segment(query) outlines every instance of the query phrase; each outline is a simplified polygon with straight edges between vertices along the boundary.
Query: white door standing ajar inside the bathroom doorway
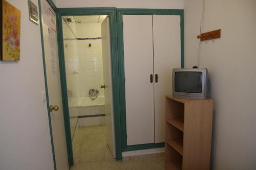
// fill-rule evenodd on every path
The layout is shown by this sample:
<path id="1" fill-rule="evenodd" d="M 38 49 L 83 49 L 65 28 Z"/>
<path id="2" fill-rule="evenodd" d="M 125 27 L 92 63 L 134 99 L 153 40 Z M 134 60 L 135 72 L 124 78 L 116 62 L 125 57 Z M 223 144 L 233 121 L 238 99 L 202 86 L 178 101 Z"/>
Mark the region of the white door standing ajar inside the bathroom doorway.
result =
<path id="1" fill-rule="evenodd" d="M 106 115 L 106 141 L 113 157 L 116 157 L 115 124 L 112 91 L 111 46 L 110 46 L 110 20 L 107 16 L 101 23 L 101 42 L 103 60 L 103 82 L 105 85 L 105 115 Z"/>

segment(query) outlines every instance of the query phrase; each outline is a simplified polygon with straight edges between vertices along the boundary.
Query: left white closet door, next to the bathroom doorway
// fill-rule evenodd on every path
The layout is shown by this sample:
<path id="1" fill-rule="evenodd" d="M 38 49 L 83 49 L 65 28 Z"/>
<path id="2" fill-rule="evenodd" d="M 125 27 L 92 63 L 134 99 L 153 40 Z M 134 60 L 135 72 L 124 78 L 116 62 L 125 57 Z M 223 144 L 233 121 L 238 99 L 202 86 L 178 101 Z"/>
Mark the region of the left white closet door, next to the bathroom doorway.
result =
<path id="1" fill-rule="evenodd" d="M 127 145 L 154 143 L 152 15 L 123 15 Z"/>

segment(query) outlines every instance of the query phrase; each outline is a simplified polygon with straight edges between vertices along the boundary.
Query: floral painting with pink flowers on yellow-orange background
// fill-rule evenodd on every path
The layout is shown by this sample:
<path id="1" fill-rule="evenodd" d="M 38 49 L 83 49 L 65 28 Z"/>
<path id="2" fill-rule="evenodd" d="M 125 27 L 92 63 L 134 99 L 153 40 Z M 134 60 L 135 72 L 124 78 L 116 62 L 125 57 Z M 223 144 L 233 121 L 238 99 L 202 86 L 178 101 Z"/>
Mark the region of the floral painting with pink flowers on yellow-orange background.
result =
<path id="1" fill-rule="evenodd" d="M 2 61 L 19 61 L 20 58 L 20 11 L 2 2 Z"/>

